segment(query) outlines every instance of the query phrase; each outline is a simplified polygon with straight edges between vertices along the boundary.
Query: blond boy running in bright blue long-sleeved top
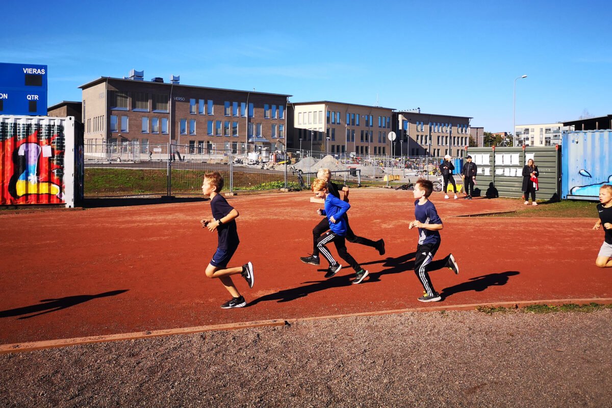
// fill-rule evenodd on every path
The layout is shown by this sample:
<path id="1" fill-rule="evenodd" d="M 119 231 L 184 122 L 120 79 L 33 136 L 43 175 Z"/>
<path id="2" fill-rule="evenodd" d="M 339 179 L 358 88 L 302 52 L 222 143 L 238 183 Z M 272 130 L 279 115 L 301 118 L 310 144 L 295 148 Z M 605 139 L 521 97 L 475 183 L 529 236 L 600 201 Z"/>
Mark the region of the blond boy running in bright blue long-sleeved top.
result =
<path id="1" fill-rule="evenodd" d="M 323 254 L 325 259 L 327 259 L 327 262 L 329 262 L 329 269 L 327 269 L 325 277 L 331 278 L 342 267 L 342 265 L 335 261 L 334 257 L 325 246 L 326 243 L 334 242 L 340 258 L 348 262 L 357 274 L 353 280 L 353 283 L 362 283 L 365 277 L 368 276 L 368 271 L 364 270 L 357 263 L 357 261 L 355 261 L 351 254 L 346 251 L 346 219 L 344 215 L 346 211 L 351 208 L 351 204 L 329 194 L 326 180 L 315 179 L 312 182 L 311 188 L 316 198 L 325 200 L 325 209 L 318 209 L 316 210 L 316 213 L 319 215 L 325 215 L 329 220 L 330 231 L 323 234 L 316 244 L 319 252 Z"/>

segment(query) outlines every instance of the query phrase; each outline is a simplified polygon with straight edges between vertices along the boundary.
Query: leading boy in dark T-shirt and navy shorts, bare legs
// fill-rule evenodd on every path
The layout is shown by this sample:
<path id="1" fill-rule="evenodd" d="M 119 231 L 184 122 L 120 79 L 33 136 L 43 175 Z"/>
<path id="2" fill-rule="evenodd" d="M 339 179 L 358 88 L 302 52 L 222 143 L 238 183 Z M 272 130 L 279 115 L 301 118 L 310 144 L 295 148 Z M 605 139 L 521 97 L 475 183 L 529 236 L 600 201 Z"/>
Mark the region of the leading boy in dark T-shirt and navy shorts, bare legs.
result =
<path id="1" fill-rule="evenodd" d="M 253 264 L 247 262 L 247 264 L 242 266 L 227 267 L 228 262 L 230 262 L 240 243 L 235 221 L 239 213 L 220 194 L 222 188 L 223 177 L 217 171 L 204 175 L 202 193 L 211 197 L 213 218 L 201 220 L 200 223 L 202 228 L 207 228 L 211 232 L 216 229 L 218 233 L 217 251 L 212 257 L 211 263 L 206 267 L 206 276 L 218 278 L 223 283 L 223 286 L 225 286 L 225 289 L 232 295 L 232 299 L 221 305 L 222 309 L 244 308 L 247 302 L 238 292 L 236 286 L 234 286 L 230 276 L 240 273 L 247 281 L 248 287 L 253 287 Z"/>

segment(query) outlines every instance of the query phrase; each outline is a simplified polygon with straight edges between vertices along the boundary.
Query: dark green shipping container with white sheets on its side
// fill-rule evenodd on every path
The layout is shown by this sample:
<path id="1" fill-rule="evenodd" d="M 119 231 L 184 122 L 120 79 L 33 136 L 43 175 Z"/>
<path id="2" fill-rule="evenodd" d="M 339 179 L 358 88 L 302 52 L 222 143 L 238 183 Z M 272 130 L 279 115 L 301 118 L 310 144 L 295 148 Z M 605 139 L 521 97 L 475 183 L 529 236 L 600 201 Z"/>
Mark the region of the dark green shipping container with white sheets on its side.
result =
<path id="1" fill-rule="evenodd" d="M 561 195 L 561 150 L 559 146 L 468 147 L 478 174 L 475 196 L 523 196 L 523 167 L 531 158 L 540 172 L 536 199 L 556 201 Z M 465 160 L 465 158 L 464 158 Z M 457 174 L 461 169 L 457 170 Z"/>

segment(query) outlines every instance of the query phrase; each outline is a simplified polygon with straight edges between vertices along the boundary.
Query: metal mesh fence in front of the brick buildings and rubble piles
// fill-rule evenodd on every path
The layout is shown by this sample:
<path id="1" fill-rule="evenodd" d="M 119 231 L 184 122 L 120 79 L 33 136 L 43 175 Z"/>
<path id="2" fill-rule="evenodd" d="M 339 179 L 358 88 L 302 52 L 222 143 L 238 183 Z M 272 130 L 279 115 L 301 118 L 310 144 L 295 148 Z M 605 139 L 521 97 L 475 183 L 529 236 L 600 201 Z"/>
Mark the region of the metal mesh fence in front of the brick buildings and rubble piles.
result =
<path id="1" fill-rule="evenodd" d="M 438 175 L 441 158 L 333 154 L 174 144 L 84 145 L 84 196 L 201 195 L 202 177 L 218 171 L 225 192 L 306 188 L 320 168 L 349 186 L 393 185 Z M 216 146 L 215 146 L 216 147 Z M 225 146 L 224 146 L 225 147 Z M 457 171 L 458 172 L 458 171 Z"/>

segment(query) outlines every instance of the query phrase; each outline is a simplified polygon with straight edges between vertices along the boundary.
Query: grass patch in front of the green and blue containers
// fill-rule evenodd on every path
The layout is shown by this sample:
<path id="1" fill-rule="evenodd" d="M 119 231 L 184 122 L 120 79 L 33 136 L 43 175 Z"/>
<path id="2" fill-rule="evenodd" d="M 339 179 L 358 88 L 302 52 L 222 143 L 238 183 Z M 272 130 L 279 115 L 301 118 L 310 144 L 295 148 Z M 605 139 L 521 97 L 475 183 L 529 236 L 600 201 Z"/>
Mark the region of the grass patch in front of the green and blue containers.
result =
<path id="1" fill-rule="evenodd" d="M 509 198 L 510 199 L 510 198 Z M 520 208 L 513 213 L 483 215 L 483 217 L 553 217 L 553 218 L 597 218 L 594 201 L 562 200 L 540 202 L 539 206 Z M 528 206 L 524 206 L 528 207 Z"/>

